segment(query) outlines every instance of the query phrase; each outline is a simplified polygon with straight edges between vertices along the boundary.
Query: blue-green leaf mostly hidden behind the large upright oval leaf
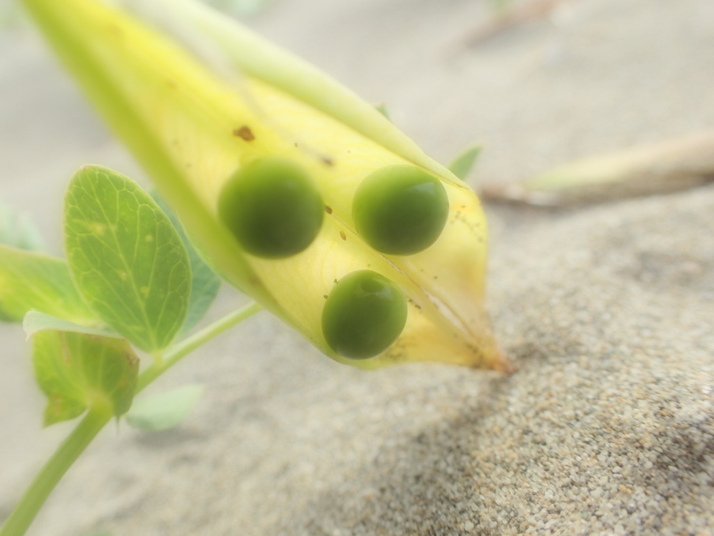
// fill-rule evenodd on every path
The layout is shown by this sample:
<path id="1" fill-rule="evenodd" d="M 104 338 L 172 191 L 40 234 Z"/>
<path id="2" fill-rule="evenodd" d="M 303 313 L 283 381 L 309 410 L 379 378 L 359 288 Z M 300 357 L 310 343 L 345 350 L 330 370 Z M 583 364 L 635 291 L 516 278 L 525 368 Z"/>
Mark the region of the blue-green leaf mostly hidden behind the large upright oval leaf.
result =
<path id="1" fill-rule="evenodd" d="M 183 230 L 183 225 L 178 220 L 178 216 L 176 216 L 176 213 L 166 204 L 159 192 L 152 191 L 151 197 L 154 198 L 156 204 L 159 205 L 161 210 L 163 210 L 166 216 L 171 220 L 171 224 L 174 225 L 178 236 L 183 240 L 183 245 L 186 246 L 188 260 L 191 262 L 191 298 L 188 300 L 186 320 L 183 322 L 181 331 L 178 332 L 179 336 L 181 336 L 190 332 L 203 318 L 203 315 L 206 314 L 208 307 L 211 307 L 213 300 L 216 299 L 218 295 L 218 289 L 221 288 L 221 278 L 203 261 L 201 255 L 198 254 L 196 248 L 193 247 L 191 240 L 186 236 L 186 232 Z"/>

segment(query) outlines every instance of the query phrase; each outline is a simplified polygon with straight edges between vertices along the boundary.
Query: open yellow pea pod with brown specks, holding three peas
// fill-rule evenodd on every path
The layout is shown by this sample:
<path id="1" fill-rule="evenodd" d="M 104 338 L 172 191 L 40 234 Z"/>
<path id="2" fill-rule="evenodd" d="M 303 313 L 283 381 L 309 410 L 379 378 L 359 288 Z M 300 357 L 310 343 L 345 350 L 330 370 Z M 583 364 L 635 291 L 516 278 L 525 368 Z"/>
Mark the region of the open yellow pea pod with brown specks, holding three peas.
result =
<path id="1" fill-rule="evenodd" d="M 139 16 L 98 0 L 22 1 L 229 282 L 341 362 L 509 368 L 484 309 L 486 222 L 476 195 L 372 106 L 198 2 L 137 2 Z M 221 212 L 226 184 L 271 159 L 308 177 L 325 211 L 309 245 L 282 257 L 256 254 Z M 441 233 L 406 252 L 374 249 L 364 226 L 376 220 L 369 211 L 357 217 L 356 204 L 370 208 L 385 193 L 378 185 L 358 202 L 358 188 L 375 173 L 390 184 L 390 169 L 407 175 L 416 169 L 446 199 L 436 225 Z M 398 221 L 386 224 L 397 222 L 397 234 L 411 229 Z M 328 339 L 341 337 L 343 327 L 369 337 L 352 320 L 361 322 L 355 315 L 364 310 L 369 317 L 371 309 L 356 307 L 344 288 L 332 293 L 338 282 L 352 281 L 348 274 L 365 270 L 382 278 L 378 288 L 385 292 L 396 285 L 406 315 L 397 307 L 393 323 L 403 318 L 404 325 L 396 327 L 393 344 L 351 355 Z M 323 309 L 344 313 L 344 322 L 323 318 Z"/>

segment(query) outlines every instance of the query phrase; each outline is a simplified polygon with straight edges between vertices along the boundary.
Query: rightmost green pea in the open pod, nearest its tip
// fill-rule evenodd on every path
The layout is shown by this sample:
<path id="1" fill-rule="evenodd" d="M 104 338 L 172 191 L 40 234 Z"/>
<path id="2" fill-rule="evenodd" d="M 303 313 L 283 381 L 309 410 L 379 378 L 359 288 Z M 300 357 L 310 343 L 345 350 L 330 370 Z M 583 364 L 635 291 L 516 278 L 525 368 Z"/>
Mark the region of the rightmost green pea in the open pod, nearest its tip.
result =
<path id="1" fill-rule="evenodd" d="M 416 166 L 378 169 L 358 186 L 352 202 L 357 232 L 373 249 L 411 255 L 436 242 L 448 219 L 446 189 Z"/>

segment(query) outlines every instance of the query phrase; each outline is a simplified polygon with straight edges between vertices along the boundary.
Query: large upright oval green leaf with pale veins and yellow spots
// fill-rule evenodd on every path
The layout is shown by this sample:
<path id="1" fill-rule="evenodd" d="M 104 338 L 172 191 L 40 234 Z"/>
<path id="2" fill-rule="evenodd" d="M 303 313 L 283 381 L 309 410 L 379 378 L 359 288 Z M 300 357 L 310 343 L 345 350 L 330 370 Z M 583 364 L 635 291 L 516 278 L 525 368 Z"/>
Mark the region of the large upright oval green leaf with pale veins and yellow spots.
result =
<path id="1" fill-rule="evenodd" d="M 186 319 L 191 266 L 149 194 L 111 169 L 83 167 L 67 191 L 64 232 L 69 269 L 89 307 L 147 352 L 168 346 Z"/>

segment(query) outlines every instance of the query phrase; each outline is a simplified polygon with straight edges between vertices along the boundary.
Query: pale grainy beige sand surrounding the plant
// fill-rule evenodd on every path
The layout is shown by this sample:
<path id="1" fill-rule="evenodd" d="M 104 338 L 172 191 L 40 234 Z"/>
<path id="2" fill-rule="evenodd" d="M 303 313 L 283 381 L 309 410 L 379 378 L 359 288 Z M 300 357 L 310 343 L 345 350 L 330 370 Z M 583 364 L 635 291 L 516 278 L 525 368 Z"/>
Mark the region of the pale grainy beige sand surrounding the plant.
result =
<path id="1" fill-rule="evenodd" d="M 711 0 L 570 0 L 461 47 L 488 13 L 483 0 L 276 0 L 248 22 L 386 101 L 438 159 L 486 142 L 473 184 L 714 123 Z M 0 36 L 0 162 L 1 198 L 58 253 L 79 164 L 139 177 L 26 31 Z M 511 377 L 361 372 L 261 314 L 156 385 L 206 384 L 189 420 L 108 427 L 31 534 L 714 534 L 714 187 L 486 210 Z M 23 339 L 0 326 L 0 517 L 68 430 L 40 430 Z"/>

